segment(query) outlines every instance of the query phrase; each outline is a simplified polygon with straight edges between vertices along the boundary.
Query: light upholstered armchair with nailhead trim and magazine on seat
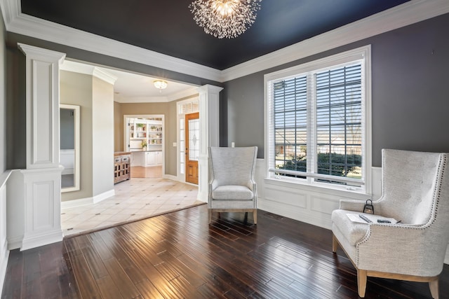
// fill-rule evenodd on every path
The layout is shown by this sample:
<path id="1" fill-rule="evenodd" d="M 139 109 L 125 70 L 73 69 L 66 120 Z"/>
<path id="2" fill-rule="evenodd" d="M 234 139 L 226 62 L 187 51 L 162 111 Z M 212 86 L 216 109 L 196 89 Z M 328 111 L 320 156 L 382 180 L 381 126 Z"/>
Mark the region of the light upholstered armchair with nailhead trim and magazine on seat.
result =
<path id="1" fill-rule="evenodd" d="M 401 223 L 356 223 L 364 202 L 340 201 L 333 211 L 333 252 L 340 244 L 357 270 L 358 295 L 367 277 L 429 282 L 438 298 L 449 241 L 448 153 L 382 150 L 382 196 L 375 214 Z"/>

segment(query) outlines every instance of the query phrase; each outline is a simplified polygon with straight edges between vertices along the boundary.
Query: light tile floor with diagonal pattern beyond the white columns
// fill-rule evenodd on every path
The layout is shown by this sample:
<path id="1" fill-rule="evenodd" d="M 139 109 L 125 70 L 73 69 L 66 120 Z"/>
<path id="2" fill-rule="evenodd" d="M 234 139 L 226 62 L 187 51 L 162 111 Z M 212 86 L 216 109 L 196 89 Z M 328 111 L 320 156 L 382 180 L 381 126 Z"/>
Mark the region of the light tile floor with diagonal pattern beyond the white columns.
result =
<path id="1" fill-rule="evenodd" d="M 114 186 L 115 195 L 97 204 L 63 209 L 64 235 L 107 228 L 195 204 L 198 187 L 169 179 L 130 179 Z"/>

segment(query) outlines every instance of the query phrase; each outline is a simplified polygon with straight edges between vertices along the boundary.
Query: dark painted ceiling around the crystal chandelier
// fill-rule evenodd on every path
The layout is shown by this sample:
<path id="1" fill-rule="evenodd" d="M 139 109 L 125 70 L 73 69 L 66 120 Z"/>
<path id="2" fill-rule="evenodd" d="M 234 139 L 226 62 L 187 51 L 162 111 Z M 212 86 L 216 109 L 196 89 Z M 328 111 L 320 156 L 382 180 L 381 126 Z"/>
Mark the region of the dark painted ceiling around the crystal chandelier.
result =
<path id="1" fill-rule="evenodd" d="M 192 0 L 21 0 L 22 13 L 227 69 L 409 0 L 262 0 L 255 24 L 217 39 L 192 18 Z"/>

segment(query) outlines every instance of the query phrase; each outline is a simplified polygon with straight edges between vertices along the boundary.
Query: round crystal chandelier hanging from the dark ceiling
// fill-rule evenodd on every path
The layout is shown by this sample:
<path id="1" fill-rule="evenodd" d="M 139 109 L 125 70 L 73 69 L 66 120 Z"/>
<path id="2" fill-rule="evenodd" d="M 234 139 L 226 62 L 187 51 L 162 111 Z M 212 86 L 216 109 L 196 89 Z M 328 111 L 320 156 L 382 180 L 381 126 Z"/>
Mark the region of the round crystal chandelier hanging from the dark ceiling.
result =
<path id="1" fill-rule="evenodd" d="M 253 25 L 262 0 L 195 0 L 189 5 L 204 32 L 232 39 Z"/>

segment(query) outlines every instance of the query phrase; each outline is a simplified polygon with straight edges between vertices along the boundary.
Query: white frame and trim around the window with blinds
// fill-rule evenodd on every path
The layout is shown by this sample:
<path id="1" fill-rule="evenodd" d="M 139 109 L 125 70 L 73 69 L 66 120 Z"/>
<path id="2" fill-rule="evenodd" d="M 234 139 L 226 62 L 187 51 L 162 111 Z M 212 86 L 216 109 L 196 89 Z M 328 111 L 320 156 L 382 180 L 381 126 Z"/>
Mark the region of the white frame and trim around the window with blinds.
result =
<path id="1" fill-rule="evenodd" d="M 273 105 L 270 102 L 272 99 L 272 83 L 274 81 L 279 81 L 280 79 L 294 78 L 297 76 L 302 76 L 302 74 L 308 74 L 311 72 L 319 72 L 326 71 L 326 69 L 334 69 L 335 67 L 339 67 L 345 64 L 350 64 L 354 62 L 361 62 L 362 65 L 362 78 L 363 78 L 363 99 L 362 99 L 362 123 L 363 123 L 363 134 L 362 134 L 362 179 L 357 181 L 361 181 L 361 187 L 358 186 L 348 186 L 348 185 L 338 185 L 333 183 L 321 183 L 315 181 L 316 177 L 323 177 L 326 175 L 311 173 L 310 167 L 311 163 L 315 162 L 316 157 L 316 127 L 314 124 L 314 118 L 308 116 L 307 117 L 307 127 L 311 126 L 311 133 L 313 137 L 307 136 L 307 177 L 306 179 L 297 179 L 289 176 L 275 176 L 273 172 L 270 172 L 270 165 L 272 165 L 272 155 L 274 154 L 274 140 L 272 139 L 272 113 L 273 113 Z M 308 82 L 309 84 L 310 82 Z M 312 85 L 308 86 L 308 92 L 311 92 L 311 97 L 313 100 L 308 103 L 307 109 L 308 113 L 316 113 L 316 99 L 314 95 L 314 90 Z M 311 62 L 306 62 L 304 64 L 299 64 L 294 67 L 289 67 L 287 69 L 281 69 L 279 71 L 274 71 L 269 74 L 264 75 L 264 157 L 265 157 L 265 165 L 266 165 L 266 178 L 267 179 L 279 179 L 280 181 L 292 182 L 292 183 L 300 183 L 308 186 L 316 186 L 319 188 L 330 188 L 337 190 L 348 190 L 356 193 L 371 193 L 371 169 L 372 169 L 372 125 L 371 125 L 371 47 L 363 46 L 360 48 L 356 48 L 353 50 L 345 51 L 343 53 L 338 53 L 336 55 L 331 55 L 328 57 L 324 57 L 319 60 L 314 60 Z M 309 132 L 309 130 L 307 130 Z M 309 134 L 308 134 L 309 135 Z M 309 152 L 309 148 L 313 153 Z M 334 177 L 334 176 L 330 176 Z M 335 176 L 337 178 L 337 176 Z M 348 181 L 347 178 L 344 179 Z M 349 180 L 350 181 L 350 180 Z"/>

